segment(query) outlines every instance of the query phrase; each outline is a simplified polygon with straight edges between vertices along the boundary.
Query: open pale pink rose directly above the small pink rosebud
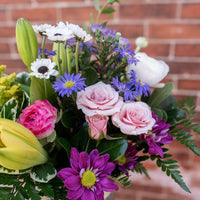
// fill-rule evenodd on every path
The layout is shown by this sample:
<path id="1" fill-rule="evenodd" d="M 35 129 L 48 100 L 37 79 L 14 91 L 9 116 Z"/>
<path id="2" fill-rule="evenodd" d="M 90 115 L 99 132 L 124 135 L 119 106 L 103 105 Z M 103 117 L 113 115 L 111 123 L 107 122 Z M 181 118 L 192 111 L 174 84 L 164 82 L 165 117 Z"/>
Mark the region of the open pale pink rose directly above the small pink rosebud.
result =
<path id="1" fill-rule="evenodd" d="M 76 104 L 87 116 L 109 116 L 119 112 L 123 98 L 110 85 L 98 82 L 78 92 Z"/>

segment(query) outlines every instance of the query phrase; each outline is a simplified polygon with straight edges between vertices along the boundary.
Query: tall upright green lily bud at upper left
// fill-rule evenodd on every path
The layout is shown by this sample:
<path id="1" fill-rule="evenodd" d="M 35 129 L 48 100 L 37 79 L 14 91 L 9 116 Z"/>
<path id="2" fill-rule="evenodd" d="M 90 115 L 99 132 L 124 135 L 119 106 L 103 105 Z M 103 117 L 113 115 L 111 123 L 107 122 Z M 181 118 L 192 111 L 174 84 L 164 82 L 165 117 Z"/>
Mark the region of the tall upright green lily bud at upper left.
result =
<path id="1" fill-rule="evenodd" d="M 17 20 L 16 42 L 19 55 L 30 72 L 31 63 L 38 57 L 38 42 L 33 27 L 25 18 Z"/>

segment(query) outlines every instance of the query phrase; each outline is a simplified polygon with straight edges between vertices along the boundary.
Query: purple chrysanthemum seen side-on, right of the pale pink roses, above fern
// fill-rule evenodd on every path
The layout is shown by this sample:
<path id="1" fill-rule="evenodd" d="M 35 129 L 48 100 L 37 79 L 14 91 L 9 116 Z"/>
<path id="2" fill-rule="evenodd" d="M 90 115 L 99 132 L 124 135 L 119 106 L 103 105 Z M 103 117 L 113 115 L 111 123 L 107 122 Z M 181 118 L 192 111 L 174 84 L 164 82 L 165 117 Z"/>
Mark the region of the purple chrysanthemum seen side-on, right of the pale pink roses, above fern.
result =
<path id="1" fill-rule="evenodd" d="M 158 120 L 157 115 L 152 111 L 152 116 L 156 120 L 155 125 L 153 126 L 151 132 L 147 135 L 143 134 L 140 136 L 140 139 L 146 139 L 149 146 L 149 154 L 159 155 L 163 158 L 163 150 L 161 144 L 169 144 L 172 142 L 173 137 L 168 133 L 170 125 L 165 122 L 164 119 Z"/>

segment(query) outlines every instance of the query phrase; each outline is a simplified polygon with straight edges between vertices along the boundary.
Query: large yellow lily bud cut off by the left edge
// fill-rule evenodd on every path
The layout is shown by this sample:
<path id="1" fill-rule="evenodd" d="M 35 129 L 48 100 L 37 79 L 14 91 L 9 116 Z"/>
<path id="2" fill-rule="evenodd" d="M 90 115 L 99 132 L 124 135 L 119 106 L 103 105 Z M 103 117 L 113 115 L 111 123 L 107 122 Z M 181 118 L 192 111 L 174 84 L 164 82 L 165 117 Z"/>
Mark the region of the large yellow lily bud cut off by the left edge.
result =
<path id="1" fill-rule="evenodd" d="M 0 165 L 23 170 L 47 162 L 47 153 L 34 134 L 21 124 L 0 118 Z"/>

